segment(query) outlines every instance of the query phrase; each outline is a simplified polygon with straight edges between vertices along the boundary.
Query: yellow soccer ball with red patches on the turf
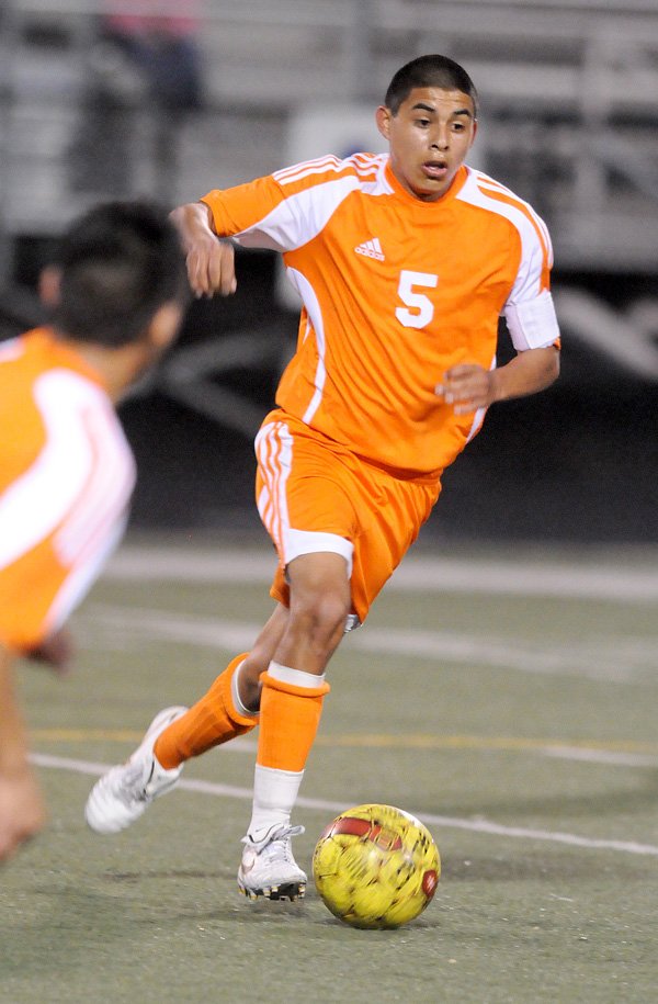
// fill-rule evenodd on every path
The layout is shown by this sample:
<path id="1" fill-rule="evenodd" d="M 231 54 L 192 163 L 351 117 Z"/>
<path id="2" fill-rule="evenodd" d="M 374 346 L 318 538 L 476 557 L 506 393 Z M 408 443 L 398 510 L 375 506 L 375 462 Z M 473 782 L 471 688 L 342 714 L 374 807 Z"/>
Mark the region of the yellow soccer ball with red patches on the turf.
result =
<path id="1" fill-rule="evenodd" d="M 352 927 L 399 927 L 426 909 L 441 873 L 420 820 L 393 805 L 358 805 L 322 832 L 313 856 L 316 889 Z"/>

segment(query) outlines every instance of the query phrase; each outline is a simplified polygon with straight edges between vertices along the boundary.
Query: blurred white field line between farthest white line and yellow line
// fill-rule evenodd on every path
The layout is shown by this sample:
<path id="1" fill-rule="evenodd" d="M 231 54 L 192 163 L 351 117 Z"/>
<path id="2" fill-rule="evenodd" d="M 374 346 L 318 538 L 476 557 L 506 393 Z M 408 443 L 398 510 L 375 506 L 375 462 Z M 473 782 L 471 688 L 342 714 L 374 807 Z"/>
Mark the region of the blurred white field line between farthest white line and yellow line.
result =
<path id="1" fill-rule="evenodd" d="M 136 639 L 245 650 L 253 644 L 262 627 L 256 622 L 105 603 L 89 603 L 80 617 L 92 628 L 112 629 L 122 644 L 128 632 Z M 490 636 L 478 639 L 449 632 L 366 624 L 351 632 L 342 644 L 344 648 L 341 651 L 355 648 L 381 655 L 411 655 L 432 662 L 480 664 L 529 674 L 577 676 L 617 684 L 646 681 L 651 678 L 656 665 L 655 643 L 650 639 L 634 639 L 632 645 L 627 640 L 620 640 L 619 646 L 613 639 L 605 639 L 600 644 L 574 642 L 534 647 L 523 645 L 519 640 L 512 645 L 504 639 Z"/>

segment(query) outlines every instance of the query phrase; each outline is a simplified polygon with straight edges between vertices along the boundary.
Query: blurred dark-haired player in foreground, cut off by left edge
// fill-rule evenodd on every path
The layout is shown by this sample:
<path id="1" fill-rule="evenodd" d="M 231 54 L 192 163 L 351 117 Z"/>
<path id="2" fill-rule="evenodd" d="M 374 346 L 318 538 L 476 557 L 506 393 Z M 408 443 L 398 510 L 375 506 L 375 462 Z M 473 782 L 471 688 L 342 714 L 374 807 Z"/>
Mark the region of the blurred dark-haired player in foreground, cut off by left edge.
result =
<path id="1" fill-rule="evenodd" d="M 179 329 L 179 235 L 150 205 L 91 210 L 41 294 L 48 325 L 0 345 L 0 860 L 45 821 L 14 663 L 65 668 L 61 625 L 122 535 L 135 465 L 113 405 Z"/>

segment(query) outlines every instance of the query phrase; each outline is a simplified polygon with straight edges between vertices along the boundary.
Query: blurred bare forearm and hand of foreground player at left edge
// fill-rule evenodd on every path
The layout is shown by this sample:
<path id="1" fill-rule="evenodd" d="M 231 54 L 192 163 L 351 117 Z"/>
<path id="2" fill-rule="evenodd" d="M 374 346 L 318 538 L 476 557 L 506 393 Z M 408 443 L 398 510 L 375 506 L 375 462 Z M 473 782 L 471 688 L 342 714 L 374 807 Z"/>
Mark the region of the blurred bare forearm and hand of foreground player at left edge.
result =
<path id="1" fill-rule="evenodd" d="M 27 740 L 13 683 L 13 657 L 0 642 L 0 861 L 42 828 L 45 811 L 27 763 Z"/>

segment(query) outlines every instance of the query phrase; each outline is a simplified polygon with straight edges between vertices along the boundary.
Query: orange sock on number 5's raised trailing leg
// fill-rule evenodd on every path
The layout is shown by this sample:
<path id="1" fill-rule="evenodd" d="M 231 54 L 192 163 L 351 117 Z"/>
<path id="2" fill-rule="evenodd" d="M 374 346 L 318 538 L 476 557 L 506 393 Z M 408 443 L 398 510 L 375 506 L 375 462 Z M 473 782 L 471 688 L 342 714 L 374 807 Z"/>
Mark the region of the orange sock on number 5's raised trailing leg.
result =
<path id="1" fill-rule="evenodd" d="M 259 715 L 240 713 L 231 693 L 232 676 L 248 654 L 237 655 L 207 693 L 158 736 L 154 753 L 166 770 L 258 725 Z"/>

